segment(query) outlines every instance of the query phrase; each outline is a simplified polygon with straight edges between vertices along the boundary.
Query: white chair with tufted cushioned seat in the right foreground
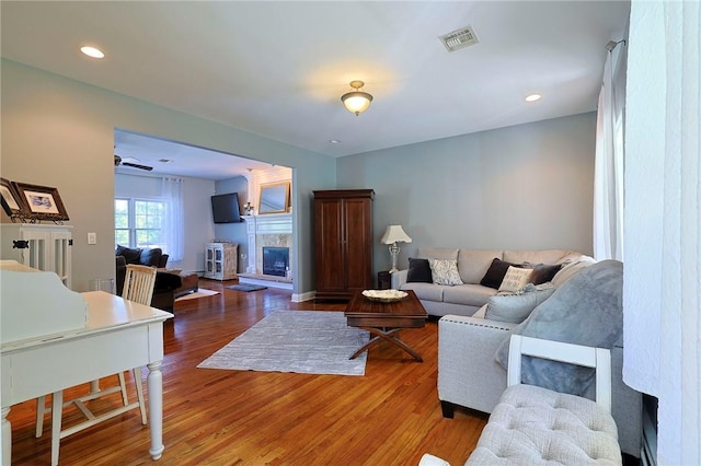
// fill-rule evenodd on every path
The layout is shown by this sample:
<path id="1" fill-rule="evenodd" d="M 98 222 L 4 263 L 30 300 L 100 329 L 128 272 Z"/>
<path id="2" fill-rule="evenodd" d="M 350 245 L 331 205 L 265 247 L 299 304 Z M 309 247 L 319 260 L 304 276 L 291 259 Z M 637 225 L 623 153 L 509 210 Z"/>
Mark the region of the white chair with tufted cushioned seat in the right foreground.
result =
<path id="1" fill-rule="evenodd" d="M 524 354 L 593 368 L 596 401 L 521 384 Z M 513 335 L 507 385 L 466 466 L 489 466 L 497 456 L 509 464 L 622 464 L 608 349 Z"/>

